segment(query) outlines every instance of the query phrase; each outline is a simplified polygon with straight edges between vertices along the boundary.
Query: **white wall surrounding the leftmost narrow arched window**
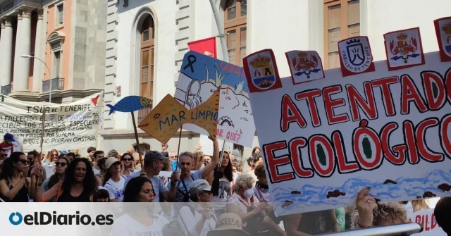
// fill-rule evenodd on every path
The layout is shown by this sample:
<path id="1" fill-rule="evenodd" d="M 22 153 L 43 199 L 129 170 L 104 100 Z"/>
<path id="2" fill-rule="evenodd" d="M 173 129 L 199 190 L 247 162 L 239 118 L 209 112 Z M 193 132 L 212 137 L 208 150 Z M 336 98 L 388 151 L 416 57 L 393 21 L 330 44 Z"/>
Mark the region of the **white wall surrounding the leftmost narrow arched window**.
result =
<path id="1" fill-rule="evenodd" d="M 166 94 L 174 94 L 175 87 L 172 80 L 175 61 L 175 1 L 157 0 L 146 4 L 145 0 L 133 0 L 134 8 L 127 8 L 127 11 L 119 12 L 118 20 L 118 58 L 117 58 L 117 78 L 116 86 L 122 86 L 121 97 L 117 97 L 119 101 L 123 97 L 129 95 L 139 95 L 137 83 L 140 81 L 139 73 L 135 65 L 130 61 L 140 53 L 140 45 L 136 44 L 136 15 L 140 9 L 149 7 L 154 15 L 156 23 L 155 34 L 155 54 L 154 54 L 154 106 L 166 96 Z M 130 4 L 131 5 L 131 4 Z M 140 63 L 140 61 L 136 61 Z M 132 128 L 128 113 L 115 113 L 115 128 L 126 129 Z M 127 120 L 127 122 L 124 122 Z"/>

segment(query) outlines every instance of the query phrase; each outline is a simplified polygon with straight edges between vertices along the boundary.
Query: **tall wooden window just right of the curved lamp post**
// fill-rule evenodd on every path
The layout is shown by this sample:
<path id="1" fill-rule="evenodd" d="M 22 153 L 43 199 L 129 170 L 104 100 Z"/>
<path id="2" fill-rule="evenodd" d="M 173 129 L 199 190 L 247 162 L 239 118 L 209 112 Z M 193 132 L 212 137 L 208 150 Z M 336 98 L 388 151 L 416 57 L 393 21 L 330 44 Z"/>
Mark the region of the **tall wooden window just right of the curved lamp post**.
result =
<path id="1" fill-rule="evenodd" d="M 224 32 L 226 32 L 228 59 L 242 66 L 246 56 L 247 0 L 228 0 L 224 7 Z"/>

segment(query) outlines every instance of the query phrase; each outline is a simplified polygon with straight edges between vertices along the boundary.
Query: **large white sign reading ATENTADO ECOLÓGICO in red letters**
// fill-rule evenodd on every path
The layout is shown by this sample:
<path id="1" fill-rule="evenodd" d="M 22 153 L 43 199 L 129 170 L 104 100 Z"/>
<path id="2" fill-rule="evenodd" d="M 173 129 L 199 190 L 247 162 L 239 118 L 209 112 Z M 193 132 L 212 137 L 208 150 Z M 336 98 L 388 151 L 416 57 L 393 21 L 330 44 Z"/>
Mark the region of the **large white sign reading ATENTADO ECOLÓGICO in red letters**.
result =
<path id="1" fill-rule="evenodd" d="M 435 51 L 375 67 L 250 94 L 278 216 L 352 205 L 364 187 L 381 201 L 451 195 L 450 63 Z"/>

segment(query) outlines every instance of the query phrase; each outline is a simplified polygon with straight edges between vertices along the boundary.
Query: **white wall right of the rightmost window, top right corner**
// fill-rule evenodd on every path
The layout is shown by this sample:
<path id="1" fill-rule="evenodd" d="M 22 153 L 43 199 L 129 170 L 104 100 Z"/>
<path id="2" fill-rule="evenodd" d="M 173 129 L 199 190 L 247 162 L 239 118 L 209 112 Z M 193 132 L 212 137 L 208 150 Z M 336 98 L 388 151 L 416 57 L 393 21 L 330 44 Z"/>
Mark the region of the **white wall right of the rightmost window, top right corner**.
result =
<path id="1" fill-rule="evenodd" d="M 375 61 L 385 60 L 383 35 L 387 32 L 420 27 L 424 52 L 438 51 L 433 20 L 451 15 L 450 0 L 368 1 L 368 37 Z"/>

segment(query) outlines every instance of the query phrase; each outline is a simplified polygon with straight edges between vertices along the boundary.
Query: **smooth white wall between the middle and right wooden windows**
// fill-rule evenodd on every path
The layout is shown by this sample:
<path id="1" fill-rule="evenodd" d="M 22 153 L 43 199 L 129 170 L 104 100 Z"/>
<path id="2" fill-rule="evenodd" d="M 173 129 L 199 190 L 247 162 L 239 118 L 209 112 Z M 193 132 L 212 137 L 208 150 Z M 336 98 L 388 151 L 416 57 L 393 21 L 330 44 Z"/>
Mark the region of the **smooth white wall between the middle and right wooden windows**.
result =
<path id="1" fill-rule="evenodd" d="M 289 76 L 290 69 L 285 52 L 309 49 L 308 1 L 247 2 L 249 5 L 247 6 L 247 54 L 262 49 L 273 49 L 280 77 Z"/>

